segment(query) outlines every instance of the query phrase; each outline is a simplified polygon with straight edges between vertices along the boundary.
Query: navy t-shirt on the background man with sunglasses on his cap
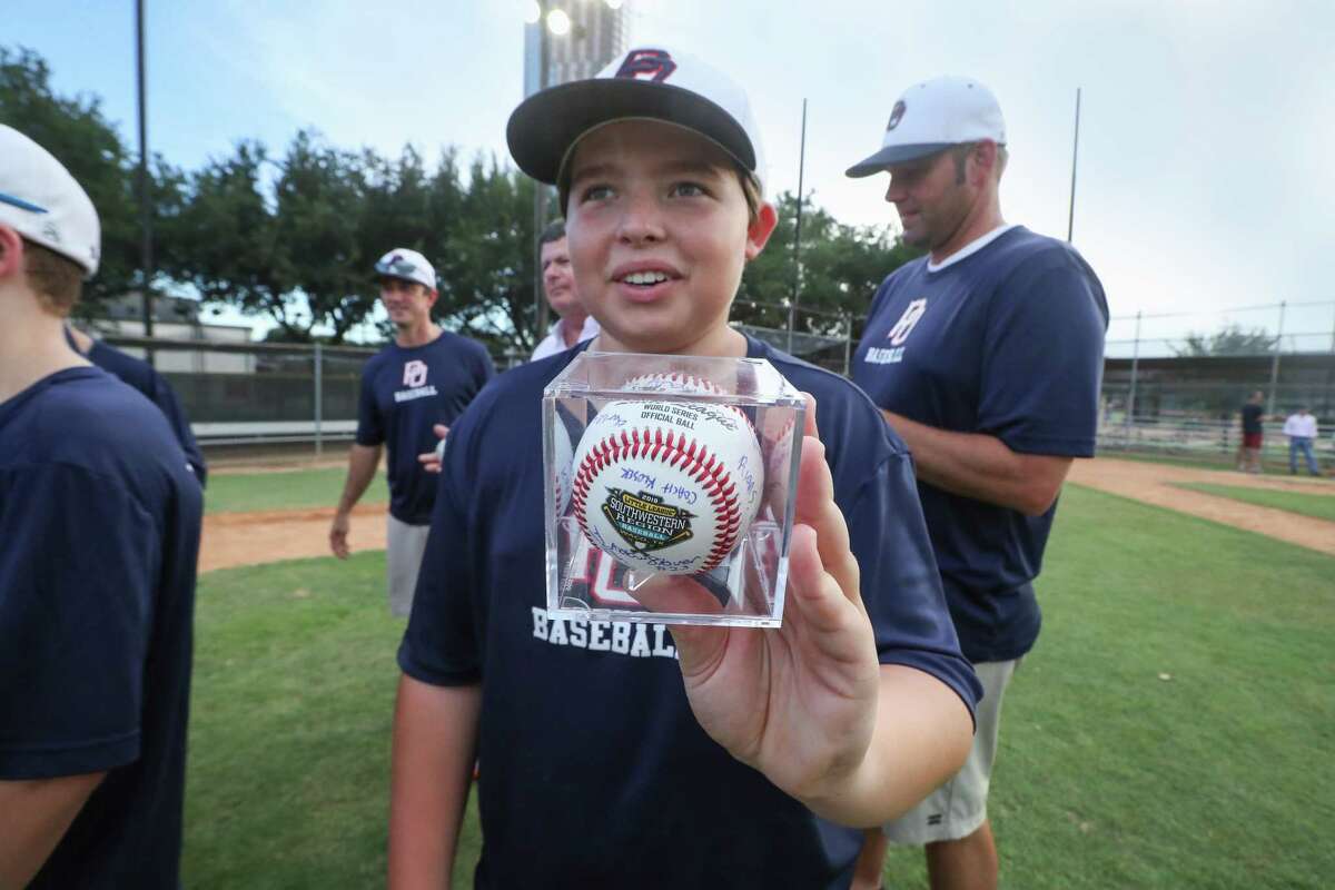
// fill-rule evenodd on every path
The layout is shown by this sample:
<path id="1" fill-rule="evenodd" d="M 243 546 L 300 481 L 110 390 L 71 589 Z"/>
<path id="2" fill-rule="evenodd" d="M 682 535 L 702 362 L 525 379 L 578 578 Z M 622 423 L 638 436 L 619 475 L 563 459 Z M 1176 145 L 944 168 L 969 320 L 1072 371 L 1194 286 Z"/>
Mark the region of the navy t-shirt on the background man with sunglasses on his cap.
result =
<path id="1" fill-rule="evenodd" d="M 418 455 L 439 442 L 431 427 L 453 424 L 494 374 L 486 347 L 449 331 L 425 346 L 390 343 L 366 363 L 356 443 L 384 443 L 390 515 L 399 522 L 431 522 L 437 476 L 422 470 Z"/>

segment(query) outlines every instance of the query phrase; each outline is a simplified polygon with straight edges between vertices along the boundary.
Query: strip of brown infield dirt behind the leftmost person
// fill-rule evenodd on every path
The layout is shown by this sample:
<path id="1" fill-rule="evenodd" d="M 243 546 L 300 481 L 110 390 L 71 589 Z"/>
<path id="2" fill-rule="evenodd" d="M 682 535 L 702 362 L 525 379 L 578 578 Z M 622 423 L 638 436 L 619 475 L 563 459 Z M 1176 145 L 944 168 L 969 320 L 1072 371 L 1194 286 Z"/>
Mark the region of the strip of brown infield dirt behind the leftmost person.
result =
<path id="1" fill-rule="evenodd" d="M 384 550 L 384 514 L 383 504 L 366 504 L 352 510 L 352 527 L 347 540 L 354 551 Z M 332 520 L 332 507 L 204 516 L 199 571 L 328 556 Z"/>

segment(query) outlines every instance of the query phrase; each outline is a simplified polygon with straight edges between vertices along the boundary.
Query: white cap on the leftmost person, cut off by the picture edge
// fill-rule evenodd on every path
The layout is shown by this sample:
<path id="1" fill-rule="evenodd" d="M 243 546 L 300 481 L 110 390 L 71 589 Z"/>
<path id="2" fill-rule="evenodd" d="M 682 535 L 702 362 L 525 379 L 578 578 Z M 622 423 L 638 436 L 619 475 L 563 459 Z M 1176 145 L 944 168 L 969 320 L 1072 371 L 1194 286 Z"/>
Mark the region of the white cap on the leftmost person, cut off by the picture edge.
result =
<path id="1" fill-rule="evenodd" d="M 0 124 L 0 226 L 68 256 L 92 278 L 101 226 L 88 192 L 64 164 L 13 127 Z"/>

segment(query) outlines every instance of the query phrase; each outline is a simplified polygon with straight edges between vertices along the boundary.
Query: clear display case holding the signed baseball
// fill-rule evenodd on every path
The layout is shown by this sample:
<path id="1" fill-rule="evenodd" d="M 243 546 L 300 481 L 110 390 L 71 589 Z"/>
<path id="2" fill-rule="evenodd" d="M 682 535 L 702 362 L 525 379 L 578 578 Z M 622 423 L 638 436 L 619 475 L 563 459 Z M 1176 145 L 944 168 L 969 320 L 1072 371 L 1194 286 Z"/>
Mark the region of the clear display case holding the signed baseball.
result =
<path id="1" fill-rule="evenodd" d="M 549 612 L 777 627 L 805 418 L 762 359 L 579 354 L 542 399 Z"/>

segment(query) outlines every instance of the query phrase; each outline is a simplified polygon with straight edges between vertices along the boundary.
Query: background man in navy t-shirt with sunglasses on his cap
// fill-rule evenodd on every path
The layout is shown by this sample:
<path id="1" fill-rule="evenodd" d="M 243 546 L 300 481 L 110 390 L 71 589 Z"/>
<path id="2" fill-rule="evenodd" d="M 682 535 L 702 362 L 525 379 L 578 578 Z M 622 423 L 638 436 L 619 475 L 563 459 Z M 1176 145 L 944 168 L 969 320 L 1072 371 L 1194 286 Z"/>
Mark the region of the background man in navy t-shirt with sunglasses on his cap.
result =
<path id="1" fill-rule="evenodd" d="M 425 256 L 392 250 L 375 264 L 375 274 L 380 303 L 394 324 L 394 342 L 362 370 L 356 443 L 348 454 L 330 548 L 339 559 L 347 558 L 348 516 L 375 476 L 380 448 L 386 447 L 390 611 L 407 616 L 435 503 L 439 447 L 449 426 L 495 371 L 486 347 L 442 331 L 431 320 L 437 280 Z"/>

